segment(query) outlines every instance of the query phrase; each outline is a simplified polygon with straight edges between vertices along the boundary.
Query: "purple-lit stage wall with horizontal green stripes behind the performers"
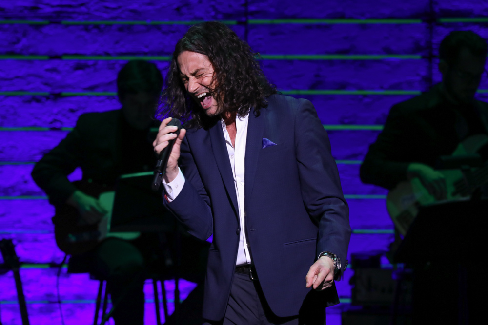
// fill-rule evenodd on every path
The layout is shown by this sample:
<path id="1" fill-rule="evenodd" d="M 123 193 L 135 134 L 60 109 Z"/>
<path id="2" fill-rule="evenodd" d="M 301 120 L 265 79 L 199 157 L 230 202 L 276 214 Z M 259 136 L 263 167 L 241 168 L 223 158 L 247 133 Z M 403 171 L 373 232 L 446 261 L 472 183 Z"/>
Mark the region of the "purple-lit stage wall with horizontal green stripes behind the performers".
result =
<path id="1" fill-rule="evenodd" d="M 393 239 L 386 191 L 361 183 L 361 161 L 389 108 L 440 80 L 440 40 L 459 29 L 487 38 L 486 17 L 487 0 L 1 0 L 0 238 L 12 238 L 29 263 L 21 277 L 31 323 L 61 324 L 50 264 L 63 253 L 54 241 L 53 208 L 30 172 L 81 114 L 120 107 L 115 81 L 128 59 L 155 62 L 165 74 L 190 25 L 228 24 L 261 54 L 279 90 L 315 105 L 350 205 L 349 253 L 385 251 Z M 484 80 L 479 97 L 487 94 Z M 344 304 L 330 308 L 328 324 L 340 324 L 352 273 L 337 285 Z M 92 321 L 97 286 L 63 269 L 66 324 Z M 192 287 L 183 285 L 183 298 Z M 153 324 L 150 283 L 146 289 L 146 324 Z M 21 324 L 11 273 L 0 276 L 0 299 L 3 322 Z"/>

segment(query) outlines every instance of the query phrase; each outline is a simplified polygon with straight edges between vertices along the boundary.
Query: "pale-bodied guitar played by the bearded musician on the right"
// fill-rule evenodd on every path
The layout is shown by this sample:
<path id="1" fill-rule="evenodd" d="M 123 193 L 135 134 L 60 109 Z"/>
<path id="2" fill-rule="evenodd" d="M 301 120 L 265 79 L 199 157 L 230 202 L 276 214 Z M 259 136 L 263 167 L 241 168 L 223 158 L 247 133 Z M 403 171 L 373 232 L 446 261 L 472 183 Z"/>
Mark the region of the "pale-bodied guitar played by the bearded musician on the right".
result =
<path id="1" fill-rule="evenodd" d="M 477 153 L 479 149 L 487 144 L 487 135 L 473 135 L 460 143 L 452 155 L 459 156 Z M 459 191 L 459 183 L 466 184 L 463 172 L 460 170 L 441 170 L 439 172 L 445 176 L 447 185 L 447 198 L 443 201 L 439 201 L 430 195 L 418 178 L 400 182 L 388 193 L 386 209 L 395 227 L 402 235 L 407 233 L 420 207 L 444 201 L 468 200 L 470 198 L 469 191 Z M 468 187 L 469 185 L 466 184 L 466 188 Z"/>

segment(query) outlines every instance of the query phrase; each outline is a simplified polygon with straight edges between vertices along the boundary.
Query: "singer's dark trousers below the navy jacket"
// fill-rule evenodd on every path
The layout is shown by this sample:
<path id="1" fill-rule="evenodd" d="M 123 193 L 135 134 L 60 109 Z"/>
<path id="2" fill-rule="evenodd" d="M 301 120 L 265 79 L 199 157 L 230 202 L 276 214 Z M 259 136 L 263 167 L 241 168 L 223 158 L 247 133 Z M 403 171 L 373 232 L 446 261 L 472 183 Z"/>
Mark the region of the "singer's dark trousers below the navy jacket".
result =
<path id="1" fill-rule="evenodd" d="M 325 325 L 325 306 L 305 304 L 307 299 L 297 316 L 278 317 L 268 306 L 259 281 L 252 281 L 248 274 L 236 272 L 224 319 L 207 321 L 205 325 Z"/>

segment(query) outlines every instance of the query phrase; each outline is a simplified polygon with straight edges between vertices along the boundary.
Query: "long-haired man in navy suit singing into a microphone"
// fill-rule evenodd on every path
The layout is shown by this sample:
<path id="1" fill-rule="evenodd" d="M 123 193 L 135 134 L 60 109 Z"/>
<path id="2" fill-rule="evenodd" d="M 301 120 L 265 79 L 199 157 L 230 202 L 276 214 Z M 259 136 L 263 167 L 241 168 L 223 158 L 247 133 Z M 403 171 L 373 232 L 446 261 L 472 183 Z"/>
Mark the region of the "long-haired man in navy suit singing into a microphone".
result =
<path id="1" fill-rule="evenodd" d="M 348 207 L 313 105 L 276 94 L 256 53 L 218 22 L 176 44 L 161 115 L 166 207 L 189 233 L 213 235 L 206 324 L 325 324 L 346 268 Z M 184 257 L 183 257 L 184 258 Z M 305 280 L 305 281 L 304 281 Z"/>

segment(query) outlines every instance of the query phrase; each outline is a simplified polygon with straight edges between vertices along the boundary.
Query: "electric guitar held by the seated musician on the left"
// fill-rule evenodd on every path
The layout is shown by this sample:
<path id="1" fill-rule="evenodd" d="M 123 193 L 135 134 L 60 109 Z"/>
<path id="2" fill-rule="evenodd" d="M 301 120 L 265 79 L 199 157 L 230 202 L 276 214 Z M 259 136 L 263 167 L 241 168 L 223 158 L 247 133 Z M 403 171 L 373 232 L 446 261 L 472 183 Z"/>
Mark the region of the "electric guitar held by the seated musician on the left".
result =
<path id="1" fill-rule="evenodd" d="M 139 237 L 140 232 L 110 232 L 112 209 L 115 191 L 110 188 L 85 181 L 73 182 L 78 190 L 99 199 L 102 207 L 107 210 L 98 224 L 88 225 L 78 210 L 68 204 L 56 207 L 53 217 L 56 244 L 67 254 L 81 254 L 95 248 L 98 243 L 108 237 L 131 240 Z"/>

